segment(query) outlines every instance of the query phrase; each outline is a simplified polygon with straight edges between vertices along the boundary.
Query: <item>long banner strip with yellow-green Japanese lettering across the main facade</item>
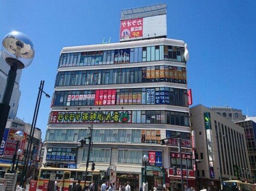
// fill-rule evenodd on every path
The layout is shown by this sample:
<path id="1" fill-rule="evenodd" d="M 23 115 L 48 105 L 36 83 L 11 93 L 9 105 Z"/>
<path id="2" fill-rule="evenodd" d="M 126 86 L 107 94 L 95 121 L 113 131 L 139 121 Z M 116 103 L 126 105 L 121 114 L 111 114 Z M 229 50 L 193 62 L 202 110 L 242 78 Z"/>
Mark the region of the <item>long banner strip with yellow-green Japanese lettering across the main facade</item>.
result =
<path id="1" fill-rule="evenodd" d="M 131 123 L 132 111 L 53 111 L 50 123 Z"/>

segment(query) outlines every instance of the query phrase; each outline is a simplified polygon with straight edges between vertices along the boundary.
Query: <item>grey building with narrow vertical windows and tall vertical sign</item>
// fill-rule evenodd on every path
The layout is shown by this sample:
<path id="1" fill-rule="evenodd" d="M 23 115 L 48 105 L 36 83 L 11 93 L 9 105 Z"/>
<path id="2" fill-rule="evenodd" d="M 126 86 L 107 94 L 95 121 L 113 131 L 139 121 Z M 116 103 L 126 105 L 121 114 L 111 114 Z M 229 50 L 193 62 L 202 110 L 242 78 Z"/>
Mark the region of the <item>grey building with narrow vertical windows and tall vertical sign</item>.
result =
<path id="1" fill-rule="evenodd" d="M 190 108 L 190 120 L 195 157 L 197 183 L 211 191 L 219 191 L 220 181 L 252 182 L 246 135 L 244 129 L 215 111 L 202 105 Z"/>

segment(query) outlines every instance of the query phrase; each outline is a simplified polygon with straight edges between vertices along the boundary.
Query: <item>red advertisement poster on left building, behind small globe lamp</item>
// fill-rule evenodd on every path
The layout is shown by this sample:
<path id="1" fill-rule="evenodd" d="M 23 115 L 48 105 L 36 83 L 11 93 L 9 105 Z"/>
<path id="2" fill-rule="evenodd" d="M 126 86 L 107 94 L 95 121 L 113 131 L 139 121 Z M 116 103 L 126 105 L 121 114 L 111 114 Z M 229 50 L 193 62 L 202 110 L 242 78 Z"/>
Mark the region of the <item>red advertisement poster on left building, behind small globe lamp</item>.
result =
<path id="1" fill-rule="evenodd" d="M 7 137 L 7 143 L 5 144 L 5 151 L 4 151 L 4 156 L 6 158 L 12 158 L 15 153 L 16 141 L 14 140 L 14 134 L 16 132 L 17 130 L 13 130 L 13 129 L 10 129 L 9 131 L 9 135 Z M 23 134 L 24 134 L 24 138 L 21 142 L 19 142 L 18 148 L 21 148 L 24 152 L 27 134 L 25 132 L 23 132 Z"/>

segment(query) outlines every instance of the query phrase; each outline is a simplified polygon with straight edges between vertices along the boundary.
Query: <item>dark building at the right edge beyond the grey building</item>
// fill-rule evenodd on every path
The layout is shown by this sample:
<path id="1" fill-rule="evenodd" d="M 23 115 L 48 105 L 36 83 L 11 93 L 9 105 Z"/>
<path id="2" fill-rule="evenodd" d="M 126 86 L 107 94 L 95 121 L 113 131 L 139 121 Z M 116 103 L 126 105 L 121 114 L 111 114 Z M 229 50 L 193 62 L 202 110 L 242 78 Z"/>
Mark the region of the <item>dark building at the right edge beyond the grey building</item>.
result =
<path id="1" fill-rule="evenodd" d="M 243 169 L 243 173 L 251 174 L 253 181 L 256 182 L 256 122 L 253 117 L 247 118 L 245 121 L 235 122 L 245 130 L 246 145 L 249 155 L 251 171 L 247 168 Z"/>

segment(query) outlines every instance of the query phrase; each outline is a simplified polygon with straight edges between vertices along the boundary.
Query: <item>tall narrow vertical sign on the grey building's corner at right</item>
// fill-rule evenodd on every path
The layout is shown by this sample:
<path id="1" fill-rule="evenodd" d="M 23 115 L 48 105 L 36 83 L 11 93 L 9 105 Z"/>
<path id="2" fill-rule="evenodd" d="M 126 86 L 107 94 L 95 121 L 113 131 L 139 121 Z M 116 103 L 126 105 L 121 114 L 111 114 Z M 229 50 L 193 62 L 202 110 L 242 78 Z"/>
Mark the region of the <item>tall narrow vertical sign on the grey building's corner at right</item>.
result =
<path id="1" fill-rule="evenodd" d="M 212 124 L 211 124 L 211 115 L 209 112 L 204 113 L 204 123 L 206 129 L 206 139 L 208 147 L 208 156 L 209 156 L 209 171 L 211 178 L 214 178 L 213 170 L 213 161 L 214 161 L 214 146 L 213 146 L 213 134 L 212 134 Z"/>

